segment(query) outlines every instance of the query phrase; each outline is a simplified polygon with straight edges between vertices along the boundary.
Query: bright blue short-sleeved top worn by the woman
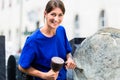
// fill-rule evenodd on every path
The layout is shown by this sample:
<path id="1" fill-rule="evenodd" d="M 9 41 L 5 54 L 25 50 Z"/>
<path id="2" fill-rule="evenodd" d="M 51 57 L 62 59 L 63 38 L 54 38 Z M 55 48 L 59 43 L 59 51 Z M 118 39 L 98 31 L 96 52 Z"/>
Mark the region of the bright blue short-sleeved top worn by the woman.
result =
<path id="1" fill-rule="evenodd" d="M 59 56 L 66 61 L 66 55 L 71 51 L 72 48 L 63 26 L 59 26 L 56 34 L 52 37 L 44 36 L 40 29 L 37 29 L 26 39 L 19 64 L 25 69 L 32 66 L 40 71 L 47 72 L 51 68 L 52 57 Z M 35 80 L 42 79 L 35 78 Z M 66 80 L 65 66 L 60 70 L 57 80 Z"/>

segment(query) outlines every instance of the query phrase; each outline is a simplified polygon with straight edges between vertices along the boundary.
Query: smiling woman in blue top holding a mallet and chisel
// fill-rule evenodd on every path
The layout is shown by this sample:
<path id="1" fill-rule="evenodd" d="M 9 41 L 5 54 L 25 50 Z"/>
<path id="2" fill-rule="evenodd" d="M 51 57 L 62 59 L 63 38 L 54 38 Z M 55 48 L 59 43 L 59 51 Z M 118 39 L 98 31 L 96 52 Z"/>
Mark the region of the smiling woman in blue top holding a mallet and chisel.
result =
<path id="1" fill-rule="evenodd" d="M 18 68 L 34 76 L 35 80 L 66 80 L 66 69 L 76 67 L 71 58 L 71 47 L 65 29 L 60 25 L 64 14 L 63 2 L 50 0 L 44 11 L 44 26 L 26 40 Z M 66 64 L 57 72 L 50 67 L 51 58 L 54 56 L 61 57 Z"/>

